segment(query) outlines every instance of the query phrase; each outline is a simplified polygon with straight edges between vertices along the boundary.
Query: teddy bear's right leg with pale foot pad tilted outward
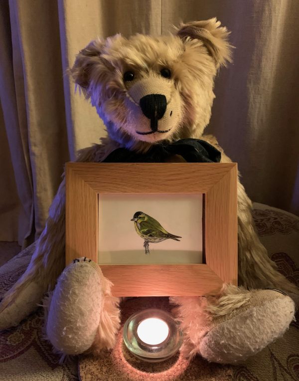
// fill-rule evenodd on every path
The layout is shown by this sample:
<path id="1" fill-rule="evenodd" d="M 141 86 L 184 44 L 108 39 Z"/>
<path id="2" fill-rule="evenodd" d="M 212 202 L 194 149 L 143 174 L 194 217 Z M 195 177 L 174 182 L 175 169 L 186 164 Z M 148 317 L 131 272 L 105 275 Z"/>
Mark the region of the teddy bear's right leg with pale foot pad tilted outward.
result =
<path id="1" fill-rule="evenodd" d="M 220 296 L 172 298 L 187 340 L 185 356 L 236 364 L 282 336 L 294 319 L 293 300 L 275 290 L 224 286 Z"/>

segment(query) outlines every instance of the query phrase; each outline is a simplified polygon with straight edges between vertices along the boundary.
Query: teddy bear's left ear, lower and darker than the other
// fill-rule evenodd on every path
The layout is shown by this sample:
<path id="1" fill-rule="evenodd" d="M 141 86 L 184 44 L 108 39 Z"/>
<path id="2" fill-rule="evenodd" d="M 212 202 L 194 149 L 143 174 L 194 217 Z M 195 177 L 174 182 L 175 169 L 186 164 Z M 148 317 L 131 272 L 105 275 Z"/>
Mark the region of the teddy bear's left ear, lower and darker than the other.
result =
<path id="1" fill-rule="evenodd" d="M 74 82 L 82 88 L 85 96 L 87 96 L 87 88 L 90 84 L 92 67 L 97 62 L 96 58 L 101 55 L 104 44 L 100 38 L 91 41 L 80 50 L 73 67 L 69 70 Z"/>

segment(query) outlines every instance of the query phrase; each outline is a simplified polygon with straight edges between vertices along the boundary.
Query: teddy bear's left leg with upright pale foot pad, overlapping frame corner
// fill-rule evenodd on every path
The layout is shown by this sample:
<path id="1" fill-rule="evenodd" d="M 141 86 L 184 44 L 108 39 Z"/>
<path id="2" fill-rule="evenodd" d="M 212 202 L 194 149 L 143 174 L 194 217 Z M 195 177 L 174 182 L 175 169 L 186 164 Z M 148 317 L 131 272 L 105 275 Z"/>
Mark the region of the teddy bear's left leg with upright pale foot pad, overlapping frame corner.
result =
<path id="1" fill-rule="evenodd" d="M 87 258 L 75 259 L 64 269 L 44 300 L 46 336 L 58 353 L 96 353 L 114 346 L 120 313 L 111 285 Z"/>

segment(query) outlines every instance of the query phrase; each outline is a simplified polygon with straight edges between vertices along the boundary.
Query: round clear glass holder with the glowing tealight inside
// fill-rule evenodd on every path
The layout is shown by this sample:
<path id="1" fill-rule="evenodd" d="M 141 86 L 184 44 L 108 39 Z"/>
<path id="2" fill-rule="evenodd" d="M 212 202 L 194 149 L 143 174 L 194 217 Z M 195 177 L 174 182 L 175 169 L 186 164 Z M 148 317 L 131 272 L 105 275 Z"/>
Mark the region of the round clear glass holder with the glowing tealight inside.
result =
<path id="1" fill-rule="evenodd" d="M 123 338 L 134 356 L 157 363 L 169 359 L 179 350 L 183 333 L 168 312 L 149 308 L 130 316 L 124 325 Z"/>

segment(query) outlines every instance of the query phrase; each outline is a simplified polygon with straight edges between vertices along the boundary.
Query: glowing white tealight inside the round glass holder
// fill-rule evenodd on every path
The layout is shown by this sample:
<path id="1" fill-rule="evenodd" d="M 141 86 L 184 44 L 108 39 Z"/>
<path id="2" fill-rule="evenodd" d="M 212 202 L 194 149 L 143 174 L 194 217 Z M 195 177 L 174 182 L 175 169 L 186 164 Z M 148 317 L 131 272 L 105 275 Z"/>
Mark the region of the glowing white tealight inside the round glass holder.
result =
<path id="1" fill-rule="evenodd" d="M 144 319 L 137 328 L 137 335 L 144 343 L 158 345 L 162 343 L 169 334 L 169 327 L 164 320 L 158 318 Z"/>

